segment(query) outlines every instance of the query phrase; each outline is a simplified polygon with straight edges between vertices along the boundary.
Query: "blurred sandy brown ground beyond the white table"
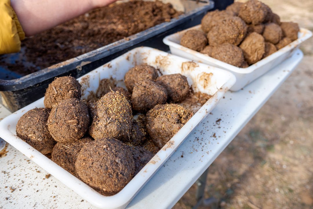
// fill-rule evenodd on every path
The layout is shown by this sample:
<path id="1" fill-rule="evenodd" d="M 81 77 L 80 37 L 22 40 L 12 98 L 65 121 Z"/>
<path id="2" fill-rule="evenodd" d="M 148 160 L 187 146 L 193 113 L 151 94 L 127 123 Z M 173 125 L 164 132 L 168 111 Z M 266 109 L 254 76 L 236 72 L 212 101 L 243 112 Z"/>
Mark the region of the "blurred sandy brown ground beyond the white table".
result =
<path id="1" fill-rule="evenodd" d="M 313 31 L 312 0 L 263 2 Z M 298 68 L 209 167 L 205 197 L 218 208 L 313 208 L 313 38 L 300 49 Z M 174 209 L 192 208 L 195 193 L 193 185 Z"/>

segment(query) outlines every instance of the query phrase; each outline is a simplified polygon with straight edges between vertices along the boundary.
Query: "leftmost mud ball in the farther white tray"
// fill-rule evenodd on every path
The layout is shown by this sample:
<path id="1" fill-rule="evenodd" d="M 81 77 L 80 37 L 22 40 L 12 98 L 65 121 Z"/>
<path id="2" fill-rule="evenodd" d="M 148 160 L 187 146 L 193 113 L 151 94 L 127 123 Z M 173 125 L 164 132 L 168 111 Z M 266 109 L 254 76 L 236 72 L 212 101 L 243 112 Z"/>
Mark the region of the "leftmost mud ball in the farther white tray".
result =
<path id="1" fill-rule="evenodd" d="M 180 44 L 195 51 L 201 51 L 208 45 L 208 39 L 200 30 L 188 30 L 182 35 Z"/>

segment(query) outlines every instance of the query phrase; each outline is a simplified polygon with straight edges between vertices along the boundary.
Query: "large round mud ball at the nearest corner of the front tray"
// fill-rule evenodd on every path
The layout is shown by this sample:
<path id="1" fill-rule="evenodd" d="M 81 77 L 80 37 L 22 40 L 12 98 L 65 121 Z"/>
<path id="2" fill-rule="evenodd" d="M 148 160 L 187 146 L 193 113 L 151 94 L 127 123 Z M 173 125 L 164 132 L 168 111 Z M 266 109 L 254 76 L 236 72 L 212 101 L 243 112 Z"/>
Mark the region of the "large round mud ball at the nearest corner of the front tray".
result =
<path id="1" fill-rule="evenodd" d="M 113 138 L 103 138 L 84 145 L 75 168 L 86 184 L 105 196 L 111 196 L 133 178 L 135 162 L 125 144 Z"/>

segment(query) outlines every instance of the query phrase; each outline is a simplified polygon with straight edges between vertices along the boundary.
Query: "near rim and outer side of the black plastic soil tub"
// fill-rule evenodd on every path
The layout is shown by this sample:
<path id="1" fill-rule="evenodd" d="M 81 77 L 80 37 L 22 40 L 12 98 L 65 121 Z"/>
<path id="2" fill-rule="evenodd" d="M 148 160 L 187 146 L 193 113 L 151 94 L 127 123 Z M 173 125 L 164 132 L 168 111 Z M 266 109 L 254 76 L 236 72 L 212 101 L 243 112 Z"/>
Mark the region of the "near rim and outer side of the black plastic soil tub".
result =
<path id="1" fill-rule="evenodd" d="M 71 75 L 78 78 L 138 46 L 150 46 L 167 51 L 168 46 L 162 42 L 165 36 L 199 24 L 203 15 L 213 7 L 214 3 L 210 1 L 201 8 L 132 35 L 127 40 L 121 39 L 27 76 L 12 80 L 0 79 L 0 102 L 11 112 L 15 112 L 43 97 L 48 84 L 56 76 Z M 7 73 L 11 78 L 16 76 L 13 72 L 0 72 L 1 74 Z"/>

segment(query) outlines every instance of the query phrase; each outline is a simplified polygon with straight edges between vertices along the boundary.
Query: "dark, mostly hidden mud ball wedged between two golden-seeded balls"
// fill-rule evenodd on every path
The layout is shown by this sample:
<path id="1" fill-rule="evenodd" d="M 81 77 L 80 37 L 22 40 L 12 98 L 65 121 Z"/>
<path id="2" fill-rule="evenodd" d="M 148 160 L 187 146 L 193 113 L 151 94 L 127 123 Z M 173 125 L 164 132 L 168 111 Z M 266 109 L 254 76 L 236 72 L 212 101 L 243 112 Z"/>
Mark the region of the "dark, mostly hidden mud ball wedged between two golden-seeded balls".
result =
<path id="1" fill-rule="evenodd" d="M 140 119 L 133 120 L 131 126 L 131 137 L 130 137 L 130 144 L 134 146 L 138 146 L 142 144 L 146 140 L 147 130 L 146 126 L 144 125 L 144 121 Z"/>

